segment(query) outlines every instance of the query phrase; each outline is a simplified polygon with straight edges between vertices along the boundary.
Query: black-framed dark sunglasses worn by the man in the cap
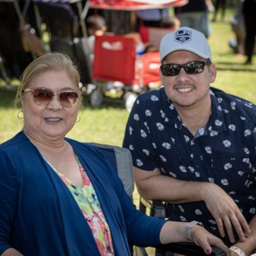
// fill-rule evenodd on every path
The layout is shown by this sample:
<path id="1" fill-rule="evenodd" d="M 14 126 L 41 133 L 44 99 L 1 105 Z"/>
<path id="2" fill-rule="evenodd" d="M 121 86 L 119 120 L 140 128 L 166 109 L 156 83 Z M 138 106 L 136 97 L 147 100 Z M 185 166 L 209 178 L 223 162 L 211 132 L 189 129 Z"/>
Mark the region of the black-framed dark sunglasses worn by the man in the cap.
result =
<path id="1" fill-rule="evenodd" d="M 161 65 L 161 71 L 164 76 L 177 76 L 180 73 L 181 67 L 184 68 L 188 75 L 198 74 L 204 71 L 204 65 L 210 65 L 211 61 L 191 61 L 183 65 L 168 63 Z"/>

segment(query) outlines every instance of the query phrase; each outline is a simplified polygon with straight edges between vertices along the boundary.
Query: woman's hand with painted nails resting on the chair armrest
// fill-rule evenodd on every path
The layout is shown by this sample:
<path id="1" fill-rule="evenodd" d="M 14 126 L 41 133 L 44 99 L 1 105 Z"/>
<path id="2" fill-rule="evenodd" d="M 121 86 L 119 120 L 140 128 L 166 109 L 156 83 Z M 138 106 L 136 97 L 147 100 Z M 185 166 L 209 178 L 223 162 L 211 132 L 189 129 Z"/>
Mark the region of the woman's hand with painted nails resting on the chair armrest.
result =
<path id="1" fill-rule="evenodd" d="M 206 229 L 199 225 L 195 225 L 190 230 L 191 240 L 199 245 L 206 254 L 211 253 L 211 245 L 219 247 L 224 250 L 226 255 L 231 256 L 229 248 L 222 242 L 221 239 L 215 237 L 215 235 L 209 233 Z"/>

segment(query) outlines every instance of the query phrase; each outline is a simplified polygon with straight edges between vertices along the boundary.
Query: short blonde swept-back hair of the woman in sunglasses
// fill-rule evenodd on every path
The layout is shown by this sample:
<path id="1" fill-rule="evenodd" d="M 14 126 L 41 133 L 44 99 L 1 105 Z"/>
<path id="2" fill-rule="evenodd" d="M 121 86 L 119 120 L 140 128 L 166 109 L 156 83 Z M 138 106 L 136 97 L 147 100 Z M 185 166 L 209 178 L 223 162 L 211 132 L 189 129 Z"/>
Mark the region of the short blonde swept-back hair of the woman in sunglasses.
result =
<path id="1" fill-rule="evenodd" d="M 70 57 L 60 52 L 45 53 L 33 60 L 23 71 L 21 85 L 16 93 L 14 106 L 21 105 L 22 90 L 28 88 L 35 77 L 48 71 L 66 71 L 73 85 L 79 90 L 80 75 Z M 82 97 L 80 97 L 79 101 L 81 106 Z"/>

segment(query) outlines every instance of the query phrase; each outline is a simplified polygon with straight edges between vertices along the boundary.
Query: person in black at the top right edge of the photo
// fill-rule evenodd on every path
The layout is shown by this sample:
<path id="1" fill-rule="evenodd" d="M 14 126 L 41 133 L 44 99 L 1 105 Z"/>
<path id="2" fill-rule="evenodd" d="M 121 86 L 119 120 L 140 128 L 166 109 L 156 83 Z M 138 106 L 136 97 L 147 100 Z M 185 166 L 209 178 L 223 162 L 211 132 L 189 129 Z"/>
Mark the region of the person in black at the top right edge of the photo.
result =
<path id="1" fill-rule="evenodd" d="M 256 37 L 256 0 L 244 0 L 243 14 L 245 23 L 245 65 L 252 64 L 253 50 Z"/>

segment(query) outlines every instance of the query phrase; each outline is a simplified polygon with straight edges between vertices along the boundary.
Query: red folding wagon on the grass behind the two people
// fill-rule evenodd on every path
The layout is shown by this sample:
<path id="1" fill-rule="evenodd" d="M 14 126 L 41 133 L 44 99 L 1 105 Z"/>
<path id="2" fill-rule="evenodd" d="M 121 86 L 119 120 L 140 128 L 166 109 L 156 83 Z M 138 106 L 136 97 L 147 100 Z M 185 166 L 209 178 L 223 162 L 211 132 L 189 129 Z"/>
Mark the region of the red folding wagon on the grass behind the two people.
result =
<path id="1" fill-rule="evenodd" d="M 136 55 L 135 42 L 124 36 L 96 38 L 92 78 L 96 88 L 87 88 L 90 104 L 99 106 L 103 100 L 124 102 L 130 111 L 137 93 L 157 88 L 159 52 Z"/>

